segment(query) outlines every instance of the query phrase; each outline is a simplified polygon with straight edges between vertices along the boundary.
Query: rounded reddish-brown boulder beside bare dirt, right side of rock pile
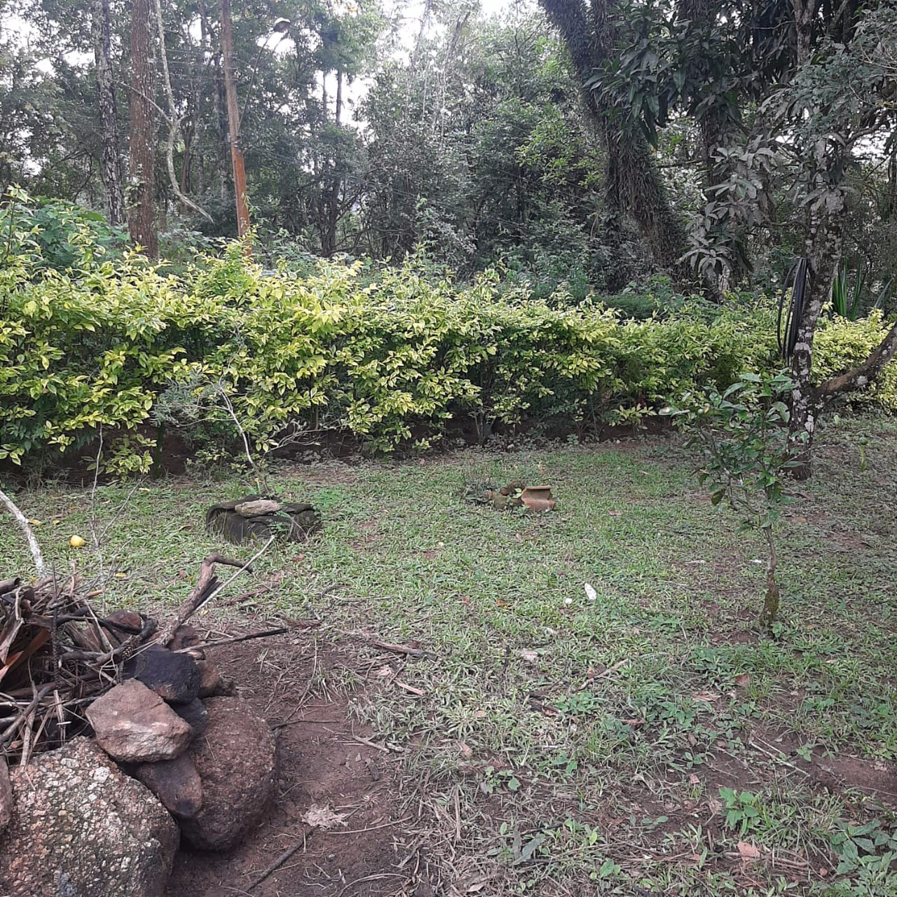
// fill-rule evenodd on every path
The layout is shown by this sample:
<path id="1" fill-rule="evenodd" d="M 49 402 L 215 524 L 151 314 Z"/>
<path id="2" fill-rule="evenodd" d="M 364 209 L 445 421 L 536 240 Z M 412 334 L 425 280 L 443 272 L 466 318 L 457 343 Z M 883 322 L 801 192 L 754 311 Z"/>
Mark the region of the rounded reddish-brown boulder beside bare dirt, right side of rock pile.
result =
<path id="1" fill-rule="evenodd" d="M 181 822 L 181 833 L 197 849 L 228 850 L 261 821 L 274 796 L 277 745 L 246 701 L 210 698 L 205 707 L 205 736 L 187 752 L 203 783 L 203 806 Z"/>

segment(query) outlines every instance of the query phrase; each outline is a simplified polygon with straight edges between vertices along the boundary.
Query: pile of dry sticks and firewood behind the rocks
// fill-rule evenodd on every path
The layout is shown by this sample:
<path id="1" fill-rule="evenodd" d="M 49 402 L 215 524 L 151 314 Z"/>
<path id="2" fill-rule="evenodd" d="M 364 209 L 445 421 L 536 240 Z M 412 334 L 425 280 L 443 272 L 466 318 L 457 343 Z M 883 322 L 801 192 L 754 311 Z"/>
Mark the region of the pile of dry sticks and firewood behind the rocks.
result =
<path id="1" fill-rule="evenodd" d="M 27 763 L 33 753 L 63 745 L 89 727 L 87 707 L 122 681 L 129 660 L 150 646 L 177 650 L 175 633 L 222 588 L 216 563 L 251 572 L 248 563 L 209 555 L 187 601 L 161 627 L 134 611 L 98 613 L 91 598 L 101 593 L 83 588 L 77 576 L 34 585 L 0 581 L 0 762 Z"/>

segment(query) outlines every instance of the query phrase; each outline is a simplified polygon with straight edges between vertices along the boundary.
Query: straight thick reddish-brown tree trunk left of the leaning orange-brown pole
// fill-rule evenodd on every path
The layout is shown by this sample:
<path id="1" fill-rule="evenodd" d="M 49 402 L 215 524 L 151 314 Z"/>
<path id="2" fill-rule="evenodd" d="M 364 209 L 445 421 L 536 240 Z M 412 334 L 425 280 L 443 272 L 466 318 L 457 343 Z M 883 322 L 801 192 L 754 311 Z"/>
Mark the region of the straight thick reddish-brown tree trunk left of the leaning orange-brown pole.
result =
<path id="1" fill-rule="evenodd" d="M 131 115 L 128 230 L 151 258 L 159 255 L 154 195 L 155 71 L 152 0 L 134 0 L 131 8 Z"/>

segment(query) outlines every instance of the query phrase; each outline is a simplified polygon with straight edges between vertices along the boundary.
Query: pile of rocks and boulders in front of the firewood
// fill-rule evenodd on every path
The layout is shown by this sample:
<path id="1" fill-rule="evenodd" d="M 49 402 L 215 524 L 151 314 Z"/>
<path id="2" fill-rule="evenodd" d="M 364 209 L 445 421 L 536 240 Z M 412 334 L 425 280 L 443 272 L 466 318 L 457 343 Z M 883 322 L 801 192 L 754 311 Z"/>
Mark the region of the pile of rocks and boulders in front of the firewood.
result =
<path id="1" fill-rule="evenodd" d="M 86 736 L 11 774 L 0 758 L 0 893 L 156 897 L 181 840 L 228 850 L 261 820 L 274 734 L 197 641 L 181 626 L 170 648 L 144 646 L 88 707 Z"/>

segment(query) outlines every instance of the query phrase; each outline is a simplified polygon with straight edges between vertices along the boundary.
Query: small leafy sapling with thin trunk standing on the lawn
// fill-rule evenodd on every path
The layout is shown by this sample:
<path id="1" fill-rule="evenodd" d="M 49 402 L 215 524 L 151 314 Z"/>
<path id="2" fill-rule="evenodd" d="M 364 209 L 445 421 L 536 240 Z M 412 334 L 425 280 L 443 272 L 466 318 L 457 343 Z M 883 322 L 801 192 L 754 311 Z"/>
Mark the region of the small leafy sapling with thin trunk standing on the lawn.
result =
<path id="1" fill-rule="evenodd" d="M 710 501 L 725 501 L 741 515 L 741 529 L 759 532 L 766 543 L 762 626 L 779 613 L 774 529 L 790 501 L 785 477 L 797 464 L 788 446 L 791 388 L 784 374 L 743 374 L 721 395 L 716 389 L 688 393 L 668 412 L 689 434 L 687 445 L 701 449 L 698 475 L 710 486 Z"/>

